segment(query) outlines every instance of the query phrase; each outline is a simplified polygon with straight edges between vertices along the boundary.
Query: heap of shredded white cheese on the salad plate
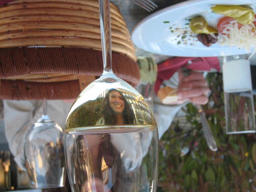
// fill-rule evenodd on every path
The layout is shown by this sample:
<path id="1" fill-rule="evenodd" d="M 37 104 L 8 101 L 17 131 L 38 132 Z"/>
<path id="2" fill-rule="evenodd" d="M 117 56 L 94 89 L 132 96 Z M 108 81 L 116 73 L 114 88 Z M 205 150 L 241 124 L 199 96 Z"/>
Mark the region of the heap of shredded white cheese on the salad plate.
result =
<path id="1" fill-rule="evenodd" d="M 222 34 L 219 33 L 218 44 L 220 46 L 237 46 L 244 48 L 247 52 L 251 52 L 251 48 L 253 48 L 255 52 L 256 30 L 252 25 L 242 25 L 238 28 L 238 22 L 232 20 L 226 25 Z"/>

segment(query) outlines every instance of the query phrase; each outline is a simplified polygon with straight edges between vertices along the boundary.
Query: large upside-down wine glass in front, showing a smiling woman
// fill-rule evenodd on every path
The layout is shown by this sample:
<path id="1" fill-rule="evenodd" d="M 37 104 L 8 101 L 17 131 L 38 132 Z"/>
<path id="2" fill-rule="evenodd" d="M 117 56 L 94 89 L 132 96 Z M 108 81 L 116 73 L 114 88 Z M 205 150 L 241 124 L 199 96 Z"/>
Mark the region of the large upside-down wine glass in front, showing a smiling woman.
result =
<path id="1" fill-rule="evenodd" d="M 104 71 L 72 105 L 64 149 L 72 192 L 155 192 L 158 130 L 152 110 L 111 68 L 109 0 L 100 0 Z"/>

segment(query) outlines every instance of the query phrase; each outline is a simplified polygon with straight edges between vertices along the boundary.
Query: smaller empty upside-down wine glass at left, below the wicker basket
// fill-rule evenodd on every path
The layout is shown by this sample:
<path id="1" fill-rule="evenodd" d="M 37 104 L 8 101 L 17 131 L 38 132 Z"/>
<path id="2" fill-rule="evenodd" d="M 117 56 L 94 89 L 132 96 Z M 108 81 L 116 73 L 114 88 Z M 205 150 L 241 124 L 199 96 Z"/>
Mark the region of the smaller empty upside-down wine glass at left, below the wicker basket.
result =
<path id="1" fill-rule="evenodd" d="M 63 130 L 47 115 L 43 101 L 43 115 L 26 135 L 25 166 L 31 188 L 58 188 L 64 186 L 65 160 Z"/>

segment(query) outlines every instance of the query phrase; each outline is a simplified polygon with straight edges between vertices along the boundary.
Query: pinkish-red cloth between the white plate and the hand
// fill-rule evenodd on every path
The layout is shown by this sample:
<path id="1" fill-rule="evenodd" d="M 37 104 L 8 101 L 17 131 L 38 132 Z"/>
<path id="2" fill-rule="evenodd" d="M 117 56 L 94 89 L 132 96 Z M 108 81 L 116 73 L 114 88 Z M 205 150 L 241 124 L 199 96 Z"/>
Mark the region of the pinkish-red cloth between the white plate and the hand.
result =
<path id="1" fill-rule="evenodd" d="M 158 74 L 155 83 L 155 93 L 157 94 L 164 80 L 169 80 L 179 69 L 186 66 L 191 70 L 210 71 L 214 68 L 220 71 L 220 63 L 217 57 L 174 57 L 158 64 Z"/>

